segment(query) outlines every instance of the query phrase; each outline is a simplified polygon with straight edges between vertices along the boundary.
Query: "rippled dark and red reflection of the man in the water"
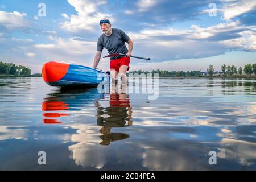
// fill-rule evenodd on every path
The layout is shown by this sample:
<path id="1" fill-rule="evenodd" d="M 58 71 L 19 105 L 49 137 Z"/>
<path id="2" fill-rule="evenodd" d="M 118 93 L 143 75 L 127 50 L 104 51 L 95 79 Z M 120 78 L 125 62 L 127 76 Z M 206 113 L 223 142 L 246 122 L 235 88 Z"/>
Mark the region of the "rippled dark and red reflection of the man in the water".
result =
<path id="1" fill-rule="evenodd" d="M 97 125 L 103 126 L 100 133 L 103 134 L 101 144 L 109 145 L 110 142 L 129 137 L 127 134 L 111 133 L 112 127 L 126 127 L 133 124 L 129 95 L 124 92 L 118 94 L 115 89 L 110 93 L 109 107 L 103 108 L 97 105 Z M 104 117 L 106 115 L 106 117 Z"/>

